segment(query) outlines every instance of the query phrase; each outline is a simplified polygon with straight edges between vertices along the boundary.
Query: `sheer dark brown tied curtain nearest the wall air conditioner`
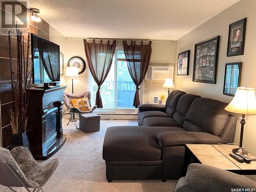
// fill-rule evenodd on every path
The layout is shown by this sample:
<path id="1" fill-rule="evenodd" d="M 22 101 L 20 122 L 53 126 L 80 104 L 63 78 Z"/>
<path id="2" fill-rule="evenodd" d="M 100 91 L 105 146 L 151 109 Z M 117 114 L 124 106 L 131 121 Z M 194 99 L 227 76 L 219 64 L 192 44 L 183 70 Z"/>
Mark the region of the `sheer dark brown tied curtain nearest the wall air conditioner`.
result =
<path id="1" fill-rule="evenodd" d="M 135 41 L 131 41 L 131 45 L 127 45 L 127 41 L 123 41 L 123 50 L 129 73 L 136 85 L 133 105 L 138 108 L 140 104 L 139 86 L 142 83 L 151 57 L 151 41 L 147 45 L 136 45 Z"/>

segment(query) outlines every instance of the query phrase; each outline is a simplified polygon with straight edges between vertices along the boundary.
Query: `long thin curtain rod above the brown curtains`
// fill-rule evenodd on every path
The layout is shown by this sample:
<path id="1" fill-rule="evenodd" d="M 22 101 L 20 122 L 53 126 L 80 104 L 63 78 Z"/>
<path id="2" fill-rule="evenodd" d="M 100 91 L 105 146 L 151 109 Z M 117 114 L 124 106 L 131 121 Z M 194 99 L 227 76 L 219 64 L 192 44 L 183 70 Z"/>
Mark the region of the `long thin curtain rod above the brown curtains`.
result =
<path id="1" fill-rule="evenodd" d="M 69 39 L 69 40 L 83 40 L 84 38 L 80 38 L 80 37 L 66 37 L 66 39 Z M 158 40 L 158 39 L 125 39 L 125 38 L 98 38 L 98 37 L 86 37 L 85 38 L 86 40 L 116 40 L 116 41 L 123 41 L 123 40 L 132 40 L 132 41 L 152 41 L 152 42 L 169 42 L 169 43 L 172 43 L 172 42 L 175 42 L 175 40 Z"/>

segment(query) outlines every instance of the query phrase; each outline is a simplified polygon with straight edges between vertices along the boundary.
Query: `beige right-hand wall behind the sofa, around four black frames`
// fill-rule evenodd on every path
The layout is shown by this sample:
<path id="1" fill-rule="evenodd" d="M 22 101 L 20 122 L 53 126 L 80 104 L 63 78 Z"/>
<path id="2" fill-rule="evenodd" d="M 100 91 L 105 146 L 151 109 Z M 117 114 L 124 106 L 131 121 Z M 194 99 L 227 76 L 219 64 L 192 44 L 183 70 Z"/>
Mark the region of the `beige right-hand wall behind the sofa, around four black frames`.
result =
<path id="1" fill-rule="evenodd" d="M 247 17 L 245 50 L 244 55 L 227 57 L 227 40 L 229 24 Z M 193 31 L 179 38 L 176 43 L 177 54 L 190 50 L 190 66 L 188 76 L 175 75 L 176 89 L 187 93 L 198 94 L 202 97 L 218 99 L 230 102 L 233 97 L 222 94 L 224 82 L 225 63 L 243 62 L 241 86 L 256 88 L 256 1 L 240 1 L 207 22 L 197 27 Z M 195 44 L 210 37 L 220 35 L 219 58 L 217 68 L 217 83 L 208 84 L 193 82 L 193 62 Z M 177 66 L 177 62 L 176 62 Z M 244 141 L 245 148 L 256 155 L 256 116 L 247 116 Z M 235 142 L 239 142 L 241 124 L 238 121 Z"/>

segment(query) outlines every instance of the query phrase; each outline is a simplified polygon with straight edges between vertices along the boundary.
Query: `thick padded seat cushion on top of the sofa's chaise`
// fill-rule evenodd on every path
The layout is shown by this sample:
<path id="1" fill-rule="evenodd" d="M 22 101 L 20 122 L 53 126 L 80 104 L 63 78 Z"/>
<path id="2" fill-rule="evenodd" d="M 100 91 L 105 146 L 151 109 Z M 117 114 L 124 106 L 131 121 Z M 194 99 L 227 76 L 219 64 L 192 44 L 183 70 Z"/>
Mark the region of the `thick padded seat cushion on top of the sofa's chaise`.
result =
<path id="1" fill-rule="evenodd" d="M 104 160 L 160 160 L 157 134 L 185 131 L 179 127 L 112 126 L 106 130 Z"/>

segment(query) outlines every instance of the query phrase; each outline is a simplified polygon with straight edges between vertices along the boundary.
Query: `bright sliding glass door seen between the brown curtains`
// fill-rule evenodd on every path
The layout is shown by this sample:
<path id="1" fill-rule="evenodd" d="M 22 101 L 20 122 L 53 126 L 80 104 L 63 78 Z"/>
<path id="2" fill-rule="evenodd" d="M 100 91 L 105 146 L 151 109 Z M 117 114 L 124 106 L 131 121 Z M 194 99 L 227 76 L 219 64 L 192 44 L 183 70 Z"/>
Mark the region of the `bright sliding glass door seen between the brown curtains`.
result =
<path id="1" fill-rule="evenodd" d="M 98 86 L 91 76 L 92 102 Z M 100 87 L 104 109 L 135 109 L 133 106 L 136 86 L 131 78 L 122 47 L 116 47 L 111 70 Z"/>

